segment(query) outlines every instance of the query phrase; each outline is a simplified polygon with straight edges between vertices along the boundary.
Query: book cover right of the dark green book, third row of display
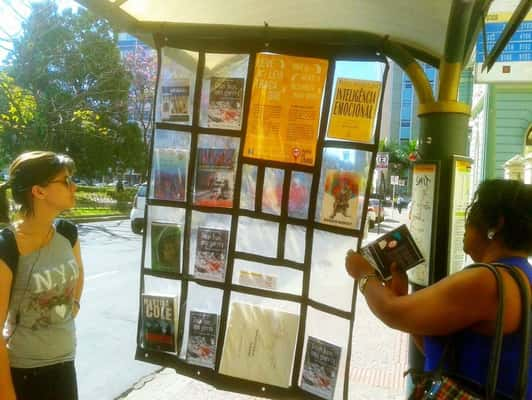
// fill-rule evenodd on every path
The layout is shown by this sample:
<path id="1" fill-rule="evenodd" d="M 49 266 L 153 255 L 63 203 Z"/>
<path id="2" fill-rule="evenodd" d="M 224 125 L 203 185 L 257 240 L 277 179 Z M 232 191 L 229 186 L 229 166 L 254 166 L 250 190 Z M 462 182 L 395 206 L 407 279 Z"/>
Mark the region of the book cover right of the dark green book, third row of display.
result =
<path id="1" fill-rule="evenodd" d="M 202 279 L 223 282 L 228 244 L 229 231 L 199 227 L 194 275 Z"/>

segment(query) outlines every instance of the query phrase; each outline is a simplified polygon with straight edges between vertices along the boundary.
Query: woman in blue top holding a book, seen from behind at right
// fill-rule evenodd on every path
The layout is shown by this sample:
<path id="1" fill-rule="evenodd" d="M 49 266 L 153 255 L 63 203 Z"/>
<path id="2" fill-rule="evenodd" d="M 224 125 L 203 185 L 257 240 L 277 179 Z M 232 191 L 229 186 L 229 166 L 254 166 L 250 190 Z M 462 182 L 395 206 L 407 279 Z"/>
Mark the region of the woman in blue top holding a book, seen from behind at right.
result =
<path id="1" fill-rule="evenodd" d="M 532 185 L 511 180 L 483 182 L 468 208 L 463 243 L 464 251 L 475 262 L 512 266 L 532 284 L 528 261 L 532 254 Z M 406 274 L 393 265 L 392 280 L 386 285 L 352 250 L 346 257 L 346 268 L 359 282 L 366 281 L 362 293 L 373 313 L 388 326 L 414 336 L 425 354 L 425 370 L 436 369 L 447 336 L 452 334 L 457 357 L 457 370 L 453 372 L 485 384 L 498 304 L 492 272 L 487 268 L 467 269 L 409 295 Z M 530 310 L 521 309 L 516 282 L 507 271 L 500 271 L 506 292 L 497 392 L 511 396 L 521 355 L 517 332 L 522 313 Z M 532 399 L 532 368 L 528 374 L 526 399 Z"/>

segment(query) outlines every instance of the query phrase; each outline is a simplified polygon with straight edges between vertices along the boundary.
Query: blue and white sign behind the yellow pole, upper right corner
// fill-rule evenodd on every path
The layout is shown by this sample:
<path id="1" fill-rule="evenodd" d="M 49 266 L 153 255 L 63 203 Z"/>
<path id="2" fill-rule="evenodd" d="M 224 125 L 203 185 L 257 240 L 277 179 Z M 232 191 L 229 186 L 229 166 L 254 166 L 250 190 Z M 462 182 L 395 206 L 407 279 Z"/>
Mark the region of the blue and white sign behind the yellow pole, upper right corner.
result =
<path id="1" fill-rule="evenodd" d="M 510 16 L 510 12 L 502 11 L 487 15 L 485 26 L 488 53 L 501 36 Z M 532 82 L 532 13 L 529 13 L 519 25 L 489 72 L 482 71 L 485 57 L 484 35 L 481 32 L 476 49 L 477 82 Z"/>

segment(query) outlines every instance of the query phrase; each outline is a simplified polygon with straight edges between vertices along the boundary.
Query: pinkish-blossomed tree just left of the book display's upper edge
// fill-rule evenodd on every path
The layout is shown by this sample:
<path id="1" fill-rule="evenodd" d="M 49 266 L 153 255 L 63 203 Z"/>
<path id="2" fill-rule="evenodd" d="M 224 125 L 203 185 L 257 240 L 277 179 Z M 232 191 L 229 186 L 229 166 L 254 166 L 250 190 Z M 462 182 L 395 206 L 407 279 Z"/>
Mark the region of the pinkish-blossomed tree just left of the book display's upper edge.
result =
<path id="1" fill-rule="evenodd" d="M 123 61 L 131 74 L 129 119 L 140 125 L 144 143 L 148 143 L 152 125 L 151 112 L 155 98 L 157 54 L 153 49 L 137 44 L 133 51 L 124 54 Z"/>

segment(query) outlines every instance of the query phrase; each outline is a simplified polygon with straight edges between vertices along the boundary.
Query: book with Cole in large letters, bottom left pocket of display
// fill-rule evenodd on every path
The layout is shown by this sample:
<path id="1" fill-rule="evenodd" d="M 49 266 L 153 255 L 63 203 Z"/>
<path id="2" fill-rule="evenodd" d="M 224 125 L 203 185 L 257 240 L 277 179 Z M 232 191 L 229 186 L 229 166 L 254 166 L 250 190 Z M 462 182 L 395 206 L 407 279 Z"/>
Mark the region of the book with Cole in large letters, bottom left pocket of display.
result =
<path id="1" fill-rule="evenodd" d="M 176 353 L 177 315 L 177 296 L 142 294 L 144 348 Z"/>

